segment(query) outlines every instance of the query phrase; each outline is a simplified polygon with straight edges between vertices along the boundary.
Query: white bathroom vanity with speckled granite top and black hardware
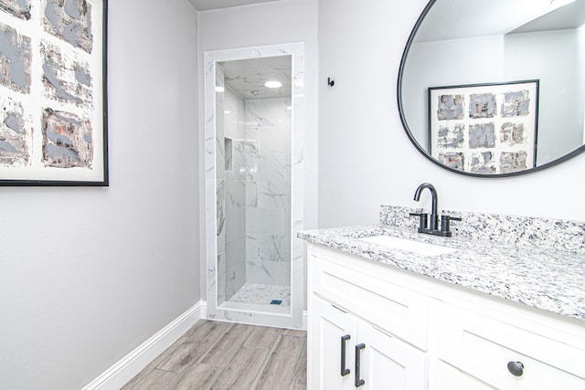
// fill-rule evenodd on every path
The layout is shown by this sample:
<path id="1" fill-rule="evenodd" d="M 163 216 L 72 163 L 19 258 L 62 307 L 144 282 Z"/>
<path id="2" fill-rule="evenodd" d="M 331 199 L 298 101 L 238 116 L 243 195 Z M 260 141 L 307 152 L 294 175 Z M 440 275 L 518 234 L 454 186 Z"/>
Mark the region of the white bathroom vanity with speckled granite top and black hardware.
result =
<path id="1" fill-rule="evenodd" d="M 444 238 L 385 224 L 409 211 L 299 235 L 309 241 L 309 388 L 584 389 L 583 227 L 465 215 Z M 477 220 L 501 239 L 480 239 Z M 527 242 L 533 229 L 552 238 Z M 454 250 L 362 239 L 379 236 Z"/>

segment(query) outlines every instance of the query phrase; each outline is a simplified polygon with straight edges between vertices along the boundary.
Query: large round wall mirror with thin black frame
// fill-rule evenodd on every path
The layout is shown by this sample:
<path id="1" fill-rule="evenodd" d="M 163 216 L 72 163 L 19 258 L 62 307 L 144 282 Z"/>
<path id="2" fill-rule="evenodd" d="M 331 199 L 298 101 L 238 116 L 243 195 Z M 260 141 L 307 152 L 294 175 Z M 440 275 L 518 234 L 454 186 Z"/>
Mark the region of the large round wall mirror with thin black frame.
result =
<path id="1" fill-rule="evenodd" d="M 410 34 L 398 100 L 433 163 L 526 174 L 585 150 L 585 0 L 431 0 Z"/>

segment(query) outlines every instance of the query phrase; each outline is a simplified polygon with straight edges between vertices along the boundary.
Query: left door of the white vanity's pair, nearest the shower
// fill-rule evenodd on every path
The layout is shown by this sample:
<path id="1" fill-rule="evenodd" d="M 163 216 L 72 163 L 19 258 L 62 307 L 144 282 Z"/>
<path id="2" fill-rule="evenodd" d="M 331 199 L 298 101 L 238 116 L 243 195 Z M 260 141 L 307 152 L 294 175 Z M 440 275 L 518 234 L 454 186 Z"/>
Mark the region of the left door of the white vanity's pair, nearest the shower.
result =
<path id="1" fill-rule="evenodd" d="M 318 297 L 312 300 L 309 361 L 313 366 L 309 368 L 309 388 L 353 389 L 356 319 Z"/>

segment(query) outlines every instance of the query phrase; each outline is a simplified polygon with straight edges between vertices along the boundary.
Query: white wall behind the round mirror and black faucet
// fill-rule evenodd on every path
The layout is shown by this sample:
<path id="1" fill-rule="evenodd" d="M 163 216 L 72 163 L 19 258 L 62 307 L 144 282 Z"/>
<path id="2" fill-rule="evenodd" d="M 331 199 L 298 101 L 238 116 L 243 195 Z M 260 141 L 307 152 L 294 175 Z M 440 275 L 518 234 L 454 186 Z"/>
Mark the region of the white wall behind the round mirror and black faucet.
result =
<path id="1" fill-rule="evenodd" d="M 435 184 L 441 208 L 585 219 L 583 154 L 534 174 L 479 179 L 445 171 L 412 146 L 400 124 L 396 83 L 426 3 L 319 2 L 319 226 L 376 223 L 382 204 L 418 206 L 412 196 L 422 182 Z M 327 77 L 335 87 L 324 85 Z"/>

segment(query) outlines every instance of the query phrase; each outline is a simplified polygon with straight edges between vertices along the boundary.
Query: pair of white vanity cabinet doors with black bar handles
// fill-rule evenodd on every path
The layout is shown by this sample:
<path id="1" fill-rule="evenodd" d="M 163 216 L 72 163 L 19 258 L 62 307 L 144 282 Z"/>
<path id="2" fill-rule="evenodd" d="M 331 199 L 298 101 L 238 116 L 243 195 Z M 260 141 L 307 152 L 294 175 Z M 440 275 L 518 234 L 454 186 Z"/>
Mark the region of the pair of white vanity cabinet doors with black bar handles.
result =
<path id="1" fill-rule="evenodd" d="M 311 389 L 427 388 L 424 353 L 325 300 L 312 299 Z"/>

